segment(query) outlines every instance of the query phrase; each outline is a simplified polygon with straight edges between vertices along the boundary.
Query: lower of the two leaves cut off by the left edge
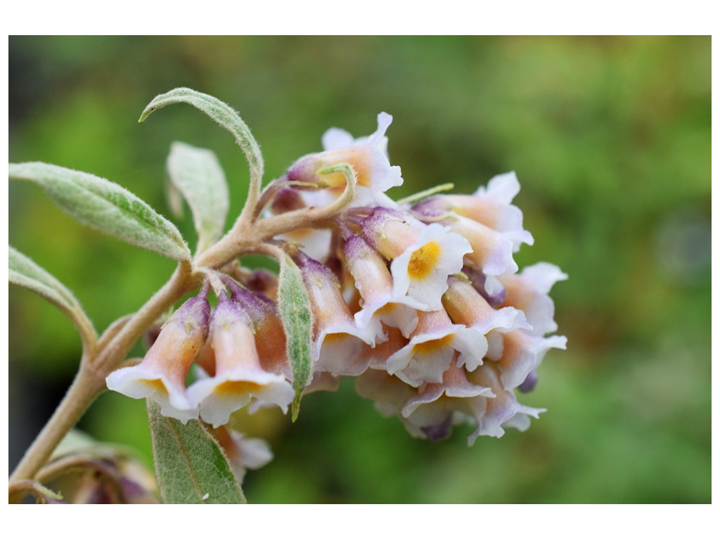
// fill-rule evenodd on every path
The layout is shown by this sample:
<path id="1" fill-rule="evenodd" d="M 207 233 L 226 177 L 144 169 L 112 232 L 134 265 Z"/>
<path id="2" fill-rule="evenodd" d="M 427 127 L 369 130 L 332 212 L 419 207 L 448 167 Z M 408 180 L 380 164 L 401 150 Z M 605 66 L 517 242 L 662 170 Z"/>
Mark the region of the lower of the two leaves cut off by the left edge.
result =
<path id="1" fill-rule="evenodd" d="M 30 257 L 12 246 L 8 247 L 8 251 L 9 282 L 30 289 L 54 304 L 72 321 L 86 346 L 94 343 L 97 338 L 95 329 L 73 293 Z"/>

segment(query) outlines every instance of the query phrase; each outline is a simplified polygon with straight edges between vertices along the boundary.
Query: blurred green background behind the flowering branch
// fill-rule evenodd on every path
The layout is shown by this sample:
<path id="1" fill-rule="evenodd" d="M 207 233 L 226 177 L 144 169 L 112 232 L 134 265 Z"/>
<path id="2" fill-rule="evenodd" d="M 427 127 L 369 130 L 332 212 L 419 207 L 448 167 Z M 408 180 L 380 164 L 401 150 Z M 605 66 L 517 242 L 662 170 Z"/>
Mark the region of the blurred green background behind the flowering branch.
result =
<path id="1" fill-rule="evenodd" d="M 241 419 L 276 457 L 253 503 L 709 503 L 711 500 L 710 37 L 10 37 L 10 161 L 122 184 L 169 215 L 170 143 L 215 150 L 230 213 L 247 167 L 232 137 L 185 105 L 142 125 L 156 94 L 191 86 L 240 111 L 266 180 L 394 116 L 401 197 L 443 182 L 472 192 L 515 170 L 515 202 L 551 261 L 567 351 L 550 351 L 523 402 L 526 433 L 467 428 L 433 444 L 382 418 L 346 381 L 299 420 Z M 99 330 L 137 310 L 171 261 L 73 222 L 35 186 L 9 186 L 9 240 L 86 307 Z M 179 220 L 194 243 L 189 215 Z M 53 307 L 9 293 L 10 467 L 50 415 L 80 343 Z M 140 351 L 140 349 L 138 349 Z M 81 428 L 150 462 L 144 403 L 106 394 Z"/>

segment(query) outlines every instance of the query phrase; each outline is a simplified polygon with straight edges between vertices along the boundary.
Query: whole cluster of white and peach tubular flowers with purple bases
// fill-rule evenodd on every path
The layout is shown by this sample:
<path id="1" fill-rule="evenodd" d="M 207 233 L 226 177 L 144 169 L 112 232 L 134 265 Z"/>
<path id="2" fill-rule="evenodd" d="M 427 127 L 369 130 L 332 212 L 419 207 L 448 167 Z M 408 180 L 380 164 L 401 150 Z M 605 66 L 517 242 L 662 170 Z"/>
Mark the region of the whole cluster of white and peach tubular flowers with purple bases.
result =
<path id="1" fill-rule="evenodd" d="M 533 237 L 511 204 L 514 173 L 474 194 L 388 197 L 403 181 L 387 156 L 391 121 L 379 114 L 377 131 L 358 139 L 328 130 L 323 152 L 300 158 L 265 192 L 265 215 L 278 216 L 341 197 L 348 179 L 338 166 L 356 181 L 337 215 L 273 240 L 301 269 L 312 309 L 305 393 L 355 377 L 360 395 L 431 440 L 458 423 L 472 425 L 470 443 L 524 430 L 543 410 L 521 405 L 516 390 L 533 390 L 546 351 L 565 348 L 563 336 L 547 335 L 557 330 L 549 291 L 567 276 L 548 263 L 518 272 L 513 253 Z M 143 361 L 110 374 L 107 386 L 220 431 L 246 406 L 287 412 L 295 390 L 276 276 L 235 268 L 218 282 L 215 299 L 206 284 L 166 320 Z"/>

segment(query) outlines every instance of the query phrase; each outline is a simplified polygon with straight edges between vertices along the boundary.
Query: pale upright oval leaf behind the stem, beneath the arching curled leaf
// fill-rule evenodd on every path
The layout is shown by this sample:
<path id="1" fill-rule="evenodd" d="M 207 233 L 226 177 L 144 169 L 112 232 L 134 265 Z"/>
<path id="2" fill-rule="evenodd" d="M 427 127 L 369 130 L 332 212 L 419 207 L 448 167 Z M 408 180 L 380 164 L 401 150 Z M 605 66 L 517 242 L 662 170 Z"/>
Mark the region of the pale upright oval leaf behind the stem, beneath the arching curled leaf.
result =
<path id="1" fill-rule="evenodd" d="M 179 192 L 188 202 L 197 230 L 197 251 L 204 251 L 225 228 L 229 200 L 225 174 L 215 153 L 179 142 L 171 145 L 167 168 L 168 195 Z"/>

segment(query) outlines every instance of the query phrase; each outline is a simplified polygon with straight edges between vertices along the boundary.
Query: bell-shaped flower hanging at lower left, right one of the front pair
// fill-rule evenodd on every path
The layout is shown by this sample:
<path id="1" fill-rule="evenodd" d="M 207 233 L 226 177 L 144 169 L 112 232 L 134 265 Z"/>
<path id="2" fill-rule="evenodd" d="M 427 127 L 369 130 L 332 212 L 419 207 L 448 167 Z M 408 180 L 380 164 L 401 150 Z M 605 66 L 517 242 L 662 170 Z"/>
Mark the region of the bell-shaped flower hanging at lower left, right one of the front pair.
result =
<path id="1" fill-rule="evenodd" d="M 285 377 L 261 366 L 250 324 L 240 305 L 221 294 L 210 320 L 215 376 L 195 382 L 187 391 L 199 406 L 200 418 L 215 428 L 228 423 L 230 415 L 253 397 L 256 408 L 277 405 L 284 412 L 294 397 Z"/>

